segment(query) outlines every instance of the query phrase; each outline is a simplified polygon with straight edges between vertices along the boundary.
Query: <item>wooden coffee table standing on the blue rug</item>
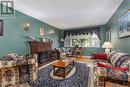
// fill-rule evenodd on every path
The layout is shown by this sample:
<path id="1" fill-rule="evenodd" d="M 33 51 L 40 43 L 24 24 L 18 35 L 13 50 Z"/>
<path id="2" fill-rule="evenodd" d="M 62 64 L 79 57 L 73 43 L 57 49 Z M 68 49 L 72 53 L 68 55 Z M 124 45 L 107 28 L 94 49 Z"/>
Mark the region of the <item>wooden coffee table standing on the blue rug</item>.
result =
<path id="1" fill-rule="evenodd" d="M 53 63 L 53 69 L 54 69 L 54 76 L 60 76 L 65 78 L 66 75 L 72 70 L 72 68 L 74 67 L 74 60 L 73 58 L 66 58 L 64 60 L 58 60 L 57 62 Z M 68 68 L 68 69 L 67 69 Z M 58 73 L 57 69 L 62 69 L 63 72 L 62 73 Z"/>

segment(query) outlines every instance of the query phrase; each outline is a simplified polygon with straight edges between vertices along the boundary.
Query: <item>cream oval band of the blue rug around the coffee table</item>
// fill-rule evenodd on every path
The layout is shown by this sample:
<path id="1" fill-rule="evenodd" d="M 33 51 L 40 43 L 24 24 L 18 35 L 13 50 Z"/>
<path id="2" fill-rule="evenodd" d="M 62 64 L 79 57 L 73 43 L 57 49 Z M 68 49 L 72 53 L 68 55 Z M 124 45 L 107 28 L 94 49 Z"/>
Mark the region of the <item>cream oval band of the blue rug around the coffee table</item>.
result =
<path id="1" fill-rule="evenodd" d="M 56 80 L 62 80 L 62 79 L 67 79 L 69 77 L 71 77 L 72 75 L 74 75 L 74 73 L 76 72 L 76 67 L 73 67 L 72 70 L 67 74 L 67 76 L 65 78 L 63 77 L 59 77 L 59 76 L 54 76 L 53 74 L 54 70 L 52 70 L 49 74 L 49 76 L 53 79 L 56 79 Z M 63 72 L 62 72 L 63 73 Z"/>

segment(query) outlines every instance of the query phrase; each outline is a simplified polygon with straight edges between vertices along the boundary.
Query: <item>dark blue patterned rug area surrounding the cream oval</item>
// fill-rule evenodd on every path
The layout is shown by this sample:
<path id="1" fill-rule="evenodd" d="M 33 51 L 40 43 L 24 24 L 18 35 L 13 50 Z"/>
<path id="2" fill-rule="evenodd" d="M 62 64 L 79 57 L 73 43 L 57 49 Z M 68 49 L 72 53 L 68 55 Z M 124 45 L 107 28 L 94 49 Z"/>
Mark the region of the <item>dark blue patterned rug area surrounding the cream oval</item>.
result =
<path id="1" fill-rule="evenodd" d="M 64 80 L 55 80 L 49 76 L 53 70 L 49 65 L 38 71 L 36 81 L 31 81 L 32 87 L 88 87 L 89 69 L 86 64 L 75 63 L 76 72 L 71 77 Z"/>

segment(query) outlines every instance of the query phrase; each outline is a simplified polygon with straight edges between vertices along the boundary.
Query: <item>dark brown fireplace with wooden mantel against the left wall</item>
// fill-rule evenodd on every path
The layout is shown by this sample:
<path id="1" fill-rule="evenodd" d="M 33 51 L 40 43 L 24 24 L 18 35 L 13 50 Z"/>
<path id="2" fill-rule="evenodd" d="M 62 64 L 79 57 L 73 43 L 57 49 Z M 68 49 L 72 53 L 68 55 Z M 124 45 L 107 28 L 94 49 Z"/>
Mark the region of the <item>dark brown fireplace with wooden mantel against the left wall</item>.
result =
<path id="1" fill-rule="evenodd" d="M 53 57 L 51 55 L 51 52 L 53 52 L 52 42 L 28 41 L 28 43 L 30 54 L 38 55 L 37 57 L 38 66 L 56 60 L 57 58 L 60 58 L 58 52 L 54 52 L 56 53 L 56 57 Z"/>

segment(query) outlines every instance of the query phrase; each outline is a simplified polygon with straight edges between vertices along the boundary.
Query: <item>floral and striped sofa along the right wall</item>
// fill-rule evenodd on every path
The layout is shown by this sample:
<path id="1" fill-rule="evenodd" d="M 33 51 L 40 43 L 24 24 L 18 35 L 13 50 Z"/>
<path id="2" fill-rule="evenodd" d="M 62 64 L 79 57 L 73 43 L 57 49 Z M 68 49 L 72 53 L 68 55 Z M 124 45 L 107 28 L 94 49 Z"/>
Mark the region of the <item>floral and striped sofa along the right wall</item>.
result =
<path id="1" fill-rule="evenodd" d="M 96 54 L 95 57 L 97 57 Z M 99 55 L 97 58 L 100 59 Z M 105 62 L 96 61 L 95 63 L 97 64 L 97 76 L 103 76 L 116 83 L 130 83 L 130 55 L 128 53 L 112 51 L 105 58 Z"/>

